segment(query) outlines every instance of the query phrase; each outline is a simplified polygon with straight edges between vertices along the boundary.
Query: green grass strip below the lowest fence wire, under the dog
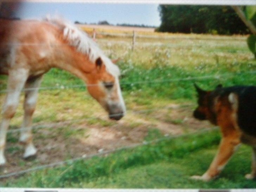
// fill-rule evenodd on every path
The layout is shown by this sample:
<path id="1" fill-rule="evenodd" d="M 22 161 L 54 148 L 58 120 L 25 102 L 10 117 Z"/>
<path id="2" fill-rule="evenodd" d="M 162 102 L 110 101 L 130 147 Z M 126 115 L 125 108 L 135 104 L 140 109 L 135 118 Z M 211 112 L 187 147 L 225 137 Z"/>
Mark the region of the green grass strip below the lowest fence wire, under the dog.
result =
<path id="1" fill-rule="evenodd" d="M 250 156 L 251 148 L 248 146 L 238 150 L 216 180 L 205 183 L 189 178 L 206 171 L 217 151 L 219 139 L 216 130 L 190 134 L 10 178 L 1 186 L 255 188 L 253 180 L 244 178 L 244 174 L 250 172 L 250 160 L 244 158 Z M 239 166 L 241 164 L 243 166 Z"/>

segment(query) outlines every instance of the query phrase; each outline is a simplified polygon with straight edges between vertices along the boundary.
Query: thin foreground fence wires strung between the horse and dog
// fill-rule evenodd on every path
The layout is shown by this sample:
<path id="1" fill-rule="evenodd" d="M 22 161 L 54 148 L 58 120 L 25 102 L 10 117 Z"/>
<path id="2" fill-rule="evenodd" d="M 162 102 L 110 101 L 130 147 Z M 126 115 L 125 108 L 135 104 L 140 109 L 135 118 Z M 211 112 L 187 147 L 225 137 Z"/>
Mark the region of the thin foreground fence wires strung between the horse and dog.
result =
<path id="1" fill-rule="evenodd" d="M 142 84 L 142 83 L 164 83 L 164 82 L 188 81 L 188 80 L 207 79 L 207 78 L 217 78 L 217 79 L 219 79 L 221 77 L 229 77 L 229 76 L 233 76 L 233 75 L 237 75 L 237 74 L 255 74 L 255 71 L 248 71 L 248 72 L 244 72 L 244 73 L 225 73 L 225 74 L 222 74 L 222 75 L 209 75 L 209 76 L 201 76 L 201 77 L 187 77 L 187 78 L 174 78 L 174 79 L 163 79 L 163 80 L 152 80 L 152 81 L 123 82 L 123 83 L 121 83 L 121 85 L 122 84 Z M 42 88 L 39 88 L 39 89 L 42 89 L 42 90 L 67 89 L 67 88 L 77 88 L 77 87 L 86 87 L 86 86 L 95 86 L 95 85 L 97 85 L 97 84 L 70 85 L 70 86 L 61 85 L 61 86 L 55 86 L 55 87 L 42 87 Z M 23 91 L 25 91 L 25 90 L 31 90 L 31 89 L 23 89 Z M 10 91 L 10 90 L 2 90 L 1 93 L 8 92 L 8 91 Z M 175 107 L 175 108 L 193 107 L 193 106 L 195 106 L 195 105 L 186 104 L 186 105 L 180 105 L 180 106 Z M 136 111 L 131 110 L 131 111 L 127 111 L 127 113 L 140 114 L 140 113 L 147 113 L 147 112 L 155 111 L 155 110 L 173 109 L 173 108 L 174 107 L 159 107 L 159 108 L 136 110 Z M 114 114 L 114 115 L 120 115 L 120 114 Z M 59 126 L 57 128 L 60 128 L 61 126 L 65 125 L 67 123 L 75 123 L 75 122 L 86 121 L 86 120 L 88 121 L 88 120 L 97 119 L 97 118 L 100 118 L 100 117 L 89 117 L 89 118 L 66 120 L 66 121 L 57 122 L 57 123 L 39 124 L 39 125 L 33 126 L 32 129 L 51 128 L 51 127 L 56 127 L 56 126 Z M 216 127 L 214 127 L 214 128 L 216 128 Z M 17 128 L 17 129 L 11 129 L 11 130 L 8 130 L 8 133 L 16 133 L 16 132 L 19 132 L 19 131 L 22 131 L 22 130 L 30 130 L 30 129 L 31 128 L 24 128 L 24 127 L 23 128 Z M 205 132 L 205 131 L 208 131 L 210 129 L 213 129 L 213 128 L 202 129 L 199 132 Z M 7 177 L 14 176 L 14 175 L 21 175 L 21 174 L 32 172 L 32 171 L 37 171 L 37 170 L 40 170 L 40 169 L 43 169 L 43 168 L 55 167 L 55 166 L 63 165 L 63 164 L 66 164 L 66 163 L 72 163 L 76 160 L 88 159 L 88 158 L 91 158 L 92 156 L 100 156 L 100 155 L 104 155 L 104 154 L 109 154 L 109 153 L 121 151 L 123 149 L 129 149 L 129 148 L 133 148 L 133 147 L 137 147 L 137 146 L 141 146 L 141 145 L 148 145 L 152 142 L 159 142 L 159 141 L 162 141 L 162 140 L 165 140 L 165 139 L 171 139 L 171 138 L 175 138 L 175 137 L 178 137 L 178 136 L 184 136 L 184 135 L 189 135 L 189 134 L 194 134 L 194 133 L 195 132 L 190 132 L 190 133 L 187 133 L 187 134 L 166 136 L 164 138 L 153 140 L 153 141 L 150 141 L 150 142 L 145 141 L 145 142 L 142 142 L 142 143 L 135 143 L 135 144 L 132 144 L 132 145 L 129 145 L 129 146 L 114 148 L 114 149 L 110 149 L 110 150 L 107 150 L 107 151 L 104 151 L 104 152 L 98 152 L 98 153 L 90 154 L 90 155 L 83 155 L 83 156 L 73 158 L 73 159 L 69 159 L 69 160 L 65 160 L 65 161 L 58 161 L 58 162 L 54 162 L 54 163 L 51 163 L 51 164 L 36 166 L 36 167 L 25 169 L 25 170 L 22 170 L 22 171 L 7 173 L 7 174 L 3 174 L 3 175 L 1 174 L 0 178 L 7 178 Z M 197 131 L 197 133 L 198 133 L 198 131 Z"/>

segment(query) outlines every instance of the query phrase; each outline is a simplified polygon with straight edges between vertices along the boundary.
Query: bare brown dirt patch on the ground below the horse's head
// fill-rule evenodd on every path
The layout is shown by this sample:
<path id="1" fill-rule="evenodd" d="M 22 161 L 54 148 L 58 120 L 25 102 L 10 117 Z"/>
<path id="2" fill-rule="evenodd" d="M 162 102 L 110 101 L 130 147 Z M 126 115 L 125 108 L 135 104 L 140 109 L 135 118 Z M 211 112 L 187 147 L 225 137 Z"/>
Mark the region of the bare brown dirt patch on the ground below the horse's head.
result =
<path id="1" fill-rule="evenodd" d="M 111 122 L 110 126 L 83 121 L 73 123 L 65 130 L 59 127 L 38 129 L 34 133 L 34 144 L 38 149 L 37 157 L 33 160 L 22 159 L 23 146 L 18 141 L 9 141 L 6 149 L 8 164 L 1 168 L 1 174 L 141 143 L 152 129 L 158 129 L 164 137 L 212 127 L 206 121 L 194 119 L 191 109 L 175 108 L 176 104 L 171 106 L 174 106 L 171 110 L 160 109 L 150 114 L 127 114 L 126 120 Z M 135 122 L 133 126 L 127 123 L 127 118 Z M 70 130 L 77 132 L 70 136 L 63 134 Z M 12 138 L 18 139 L 18 134 L 13 133 Z"/>

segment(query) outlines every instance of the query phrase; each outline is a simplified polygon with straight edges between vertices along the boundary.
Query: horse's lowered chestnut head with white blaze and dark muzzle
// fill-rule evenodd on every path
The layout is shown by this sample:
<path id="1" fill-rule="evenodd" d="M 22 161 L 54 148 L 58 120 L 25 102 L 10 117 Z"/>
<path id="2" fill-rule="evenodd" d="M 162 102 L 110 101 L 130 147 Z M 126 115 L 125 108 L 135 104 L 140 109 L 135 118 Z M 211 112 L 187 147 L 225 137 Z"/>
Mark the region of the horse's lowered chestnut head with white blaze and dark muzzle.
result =
<path id="1" fill-rule="evenodd" d="M 126 108 L 119 85 L 119 68 L 105 56 L 98 57 L 94 66 L 87 75 L 88 91 L 108 111 L 110 119 L 120 120 Z"/>

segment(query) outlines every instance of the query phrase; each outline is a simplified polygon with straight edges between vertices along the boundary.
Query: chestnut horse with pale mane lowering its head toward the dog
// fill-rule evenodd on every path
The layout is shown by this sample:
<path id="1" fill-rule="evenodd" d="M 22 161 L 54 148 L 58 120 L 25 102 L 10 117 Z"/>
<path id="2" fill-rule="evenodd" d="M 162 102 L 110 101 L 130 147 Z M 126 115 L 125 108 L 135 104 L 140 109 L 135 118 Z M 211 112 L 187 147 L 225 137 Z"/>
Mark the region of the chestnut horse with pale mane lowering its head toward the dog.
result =
<path id="1" fill-rule="evenodd" d="M 8 75 L 6 100 L 1 109 L 0 165 L 6 163 L 6 133 L 25 88 L 24 120 L 19 141 L 24 158 L 36 154 L 31 119 L 43 74 L 60 68 L 81 78 L 88 91 L 111 119 L 119 120 L 125 105 L 119 85 L 119 68 L 107 58 L 86 33 L 62 19 L 0 21 L 0 73 Z"/>

